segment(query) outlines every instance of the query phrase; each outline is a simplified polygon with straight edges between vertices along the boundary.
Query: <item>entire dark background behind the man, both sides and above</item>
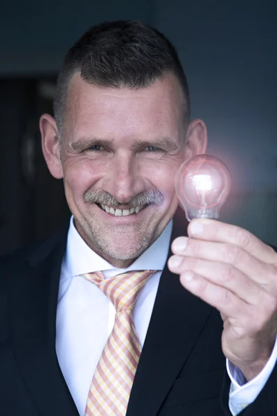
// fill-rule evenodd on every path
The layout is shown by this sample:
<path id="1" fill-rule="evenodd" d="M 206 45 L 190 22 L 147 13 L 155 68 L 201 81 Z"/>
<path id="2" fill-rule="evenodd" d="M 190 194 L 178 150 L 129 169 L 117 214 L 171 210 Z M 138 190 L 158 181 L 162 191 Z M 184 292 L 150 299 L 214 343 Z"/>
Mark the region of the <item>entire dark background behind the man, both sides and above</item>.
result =
<path id="1" fill-rule="evenodd" d="M 41 239 L 69 212 L 48 175 L 37 122 L 51 112 L 55 76 L 89 26 L 141 19 L 177 46 L 193 117 L 206 121 L 208 152 L 229 166 L 222 220 L 277 244 L 275 1 L 5 1 L 0 15 L 0 252 Z"/>

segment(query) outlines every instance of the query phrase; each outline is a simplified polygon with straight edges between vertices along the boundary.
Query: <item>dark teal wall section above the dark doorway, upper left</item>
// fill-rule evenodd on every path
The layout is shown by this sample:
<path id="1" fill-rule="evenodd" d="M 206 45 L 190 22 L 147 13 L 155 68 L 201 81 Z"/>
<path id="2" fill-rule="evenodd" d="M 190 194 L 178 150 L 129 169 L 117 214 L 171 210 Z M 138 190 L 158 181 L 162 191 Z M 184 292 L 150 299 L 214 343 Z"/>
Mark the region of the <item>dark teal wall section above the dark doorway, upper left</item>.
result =
<path id="1" fill-rule="evenodd" d="M 2 0 L 3 1 L 3 0 Z M 4 0 L 0 73 L 54 74 L 64 52 L 93 24 L 111 19 L 151 23 L 152 0 Z"/>

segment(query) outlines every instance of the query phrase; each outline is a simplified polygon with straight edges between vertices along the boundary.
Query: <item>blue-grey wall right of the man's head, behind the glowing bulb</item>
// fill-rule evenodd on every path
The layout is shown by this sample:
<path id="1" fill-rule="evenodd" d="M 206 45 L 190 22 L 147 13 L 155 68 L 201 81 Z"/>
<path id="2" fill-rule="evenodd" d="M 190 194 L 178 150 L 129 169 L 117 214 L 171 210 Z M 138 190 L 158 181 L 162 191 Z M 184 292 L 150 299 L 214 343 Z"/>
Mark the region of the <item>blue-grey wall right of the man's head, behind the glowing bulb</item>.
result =
<path id="1" fill-rule="evenodd" d="M 208 152 L 229 166 L 222 220 L 277 243 L 277 2 L 157 0 L 155 23 L 176 44 Z"/>

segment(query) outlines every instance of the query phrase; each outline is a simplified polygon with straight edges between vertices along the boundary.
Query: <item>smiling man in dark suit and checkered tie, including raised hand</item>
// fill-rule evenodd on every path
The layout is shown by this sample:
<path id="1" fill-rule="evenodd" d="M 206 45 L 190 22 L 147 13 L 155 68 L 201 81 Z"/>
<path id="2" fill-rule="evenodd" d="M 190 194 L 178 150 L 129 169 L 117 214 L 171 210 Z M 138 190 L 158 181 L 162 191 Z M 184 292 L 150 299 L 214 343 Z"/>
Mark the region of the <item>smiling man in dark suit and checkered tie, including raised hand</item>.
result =
<path id="1" fill-rule="evenodd" d="M 185 236 L 175 173 L 207 132 L 172 44 L 92 28 L 54 112 L 42 149 L 73 218 L 1 260 L 1 415 L 275 415 L 277 255 L 212 220 Z"/>

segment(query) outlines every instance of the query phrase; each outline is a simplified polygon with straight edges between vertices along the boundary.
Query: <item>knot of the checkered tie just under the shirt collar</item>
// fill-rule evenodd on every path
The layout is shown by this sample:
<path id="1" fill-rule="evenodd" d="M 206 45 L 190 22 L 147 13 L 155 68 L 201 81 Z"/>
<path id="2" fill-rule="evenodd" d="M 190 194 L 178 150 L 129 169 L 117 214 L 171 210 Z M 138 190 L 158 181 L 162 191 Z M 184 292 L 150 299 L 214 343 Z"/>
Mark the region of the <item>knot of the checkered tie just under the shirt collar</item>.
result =
<path id="1" fill-rule="evenodd" d="M 96 284 L 109 300 L 114 304 L 116 312 L 129 309 L 132 311 L 139 291 L 156 270 L 142 270 L 127 272 L 109 279 L 105 279 L 102 272 L 87 273 L 84 275 Z"/>

